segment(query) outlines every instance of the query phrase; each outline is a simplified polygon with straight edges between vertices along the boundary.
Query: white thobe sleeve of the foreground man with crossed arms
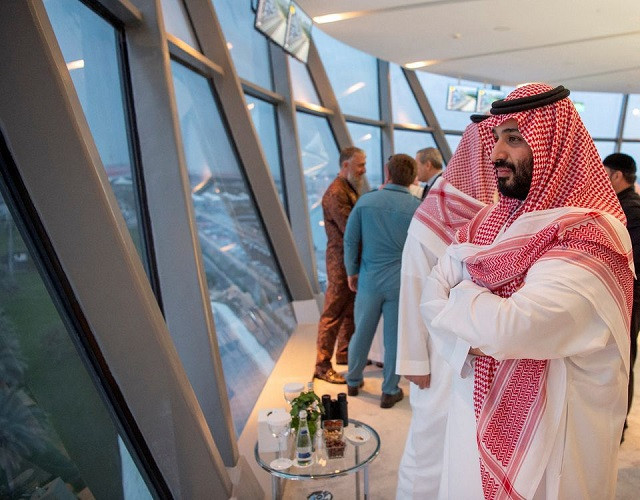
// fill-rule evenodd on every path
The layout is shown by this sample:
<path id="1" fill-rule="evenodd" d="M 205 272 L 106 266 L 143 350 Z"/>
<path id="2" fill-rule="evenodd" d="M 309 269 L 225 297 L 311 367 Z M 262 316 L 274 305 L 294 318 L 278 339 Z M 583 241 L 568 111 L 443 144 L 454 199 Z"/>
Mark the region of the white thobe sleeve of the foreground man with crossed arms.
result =
<path id="1" fill-rule="evenodd" d="M 421 310 L 438 338 L 453 337 L 498 360 L 584 355 L 610 340 L 610 329 L 587 297 L 601 284 L 587 270 L 560 259 L 539 261 L 508 298 L 468 279 L 456 284 L 462 271 L 447 255 L 428 279 Z"/>

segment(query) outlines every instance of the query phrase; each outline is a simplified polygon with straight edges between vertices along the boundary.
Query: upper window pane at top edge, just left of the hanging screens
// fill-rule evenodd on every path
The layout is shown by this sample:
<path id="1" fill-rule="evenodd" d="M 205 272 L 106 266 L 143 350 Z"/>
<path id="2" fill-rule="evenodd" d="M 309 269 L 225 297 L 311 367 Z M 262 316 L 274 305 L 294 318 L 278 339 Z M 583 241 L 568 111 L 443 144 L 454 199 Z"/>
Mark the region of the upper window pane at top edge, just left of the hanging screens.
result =
<path id="1" fill-rule="evenodd" d="M 269 42 L 254 27 L 256 14 L 251 9 L 252 2 L 212 1 L 240 78 L 273 90 Z"/>

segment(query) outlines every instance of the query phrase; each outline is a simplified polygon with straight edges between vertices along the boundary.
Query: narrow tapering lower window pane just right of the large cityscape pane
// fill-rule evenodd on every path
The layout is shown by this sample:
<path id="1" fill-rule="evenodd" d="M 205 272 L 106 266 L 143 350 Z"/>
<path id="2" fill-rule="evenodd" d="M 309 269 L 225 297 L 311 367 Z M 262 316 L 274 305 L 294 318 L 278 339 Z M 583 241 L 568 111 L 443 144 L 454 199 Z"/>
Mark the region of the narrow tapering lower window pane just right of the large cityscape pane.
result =
<path id="1" fill-rule="evenodd" d="M 261 99 L 256 99 L 245 94 L 247 100 L 247 108 L 256 127 L 262 150 L 267 157 L 271 177 L 278 190 L 280 203 L 286 207 L 284 201 L 284 188 L 282 186 L 282 162 L 280 161 L 280 142 L 278 140 L 278 127 L 276 125 L 276 109 L 275 106 Z"/>

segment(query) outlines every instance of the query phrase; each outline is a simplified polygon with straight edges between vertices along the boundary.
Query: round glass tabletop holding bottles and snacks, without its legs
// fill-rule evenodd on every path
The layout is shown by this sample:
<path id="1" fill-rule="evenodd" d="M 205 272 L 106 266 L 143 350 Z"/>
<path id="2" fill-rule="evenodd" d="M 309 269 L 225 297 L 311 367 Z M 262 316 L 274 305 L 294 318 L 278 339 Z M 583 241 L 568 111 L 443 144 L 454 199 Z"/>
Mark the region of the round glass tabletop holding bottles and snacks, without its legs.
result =
<path id="1" fill-rule="evenodd" d="M 287 438 L 283 456 L 294 458 L 295 436 L 292 433 Z M 358 420 L 349 419 L 349 425 L 344 428 L 344 455 L 341 458 L 328 458 L 326 453 L 313 454 L 311 465 L 298 467 L 294 464 L 285 470 L 274 469 L 270 463 L 277 457 L 276 452 L 261 452 L 256 442 L 254 454 L 256 461 L 264 470 L 277 477 L 285 479 L 320 479 L 350 474 L 362 469 L 380 453 L 380 436 L 373 427 Z"/>

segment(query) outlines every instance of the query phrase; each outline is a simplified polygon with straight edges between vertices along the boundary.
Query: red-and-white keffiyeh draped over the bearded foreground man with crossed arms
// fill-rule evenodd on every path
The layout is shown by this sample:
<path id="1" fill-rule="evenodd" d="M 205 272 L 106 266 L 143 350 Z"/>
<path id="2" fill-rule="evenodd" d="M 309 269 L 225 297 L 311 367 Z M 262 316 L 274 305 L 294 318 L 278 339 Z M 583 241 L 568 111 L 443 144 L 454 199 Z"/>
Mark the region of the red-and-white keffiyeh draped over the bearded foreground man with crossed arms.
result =
<path id="1" fill-rule="evenodd" d="M 530 84 L 513 91 L 507 100 L 549 90 L 551 87 L 544 84 Z M 465 261 L 471 278 L 492 293 L 509 297 L 523 285 L 536 261 L 570 260 L 608 286 L 620 314 L 626 317 L 628 331 L 631 256 L 605 214 L 623 224 L 625 218 L 578 113 L 565 98 L 541 108 L 490 117 L 478 124 L 487 158 L 495 143 L 492 129 L 510 118 L 518 122 L 518 130 L 533 152 L 529 194 L 524 202 L 500 196 L 496 205 L 485 207 L 458 231 L 456 242 L 490 245 L 505 227 L 528 212 L 562 207 L 588 210 L 562 211 L 565 215 L 542 230 L 525 234 L 517 242 L 493 245 L 489 252 L 478 252 Z M 476 359 L 474 407 L 487 499 L 524 498 L 514 484 L 545 410 L 547 373 L 545 360 Z"/>

